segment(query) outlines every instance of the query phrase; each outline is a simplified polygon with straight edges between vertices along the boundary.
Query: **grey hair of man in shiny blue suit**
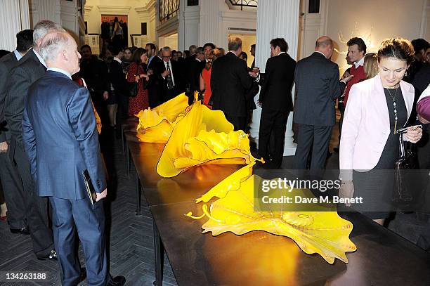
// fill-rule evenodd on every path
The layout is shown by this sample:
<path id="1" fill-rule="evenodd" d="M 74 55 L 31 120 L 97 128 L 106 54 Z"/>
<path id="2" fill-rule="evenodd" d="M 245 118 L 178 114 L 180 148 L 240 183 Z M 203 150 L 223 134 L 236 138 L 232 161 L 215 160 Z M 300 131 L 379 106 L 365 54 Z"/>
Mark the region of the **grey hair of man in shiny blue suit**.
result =
<path id="1" fill-rule="evenodd" d="M 55 60 L 60 51 L 72 44 L 70 43 L 71 39 L 72 37 L 67 32 L 51 32 L 47 34 L 40 45 L 40 56 L 46 62 Z"/>

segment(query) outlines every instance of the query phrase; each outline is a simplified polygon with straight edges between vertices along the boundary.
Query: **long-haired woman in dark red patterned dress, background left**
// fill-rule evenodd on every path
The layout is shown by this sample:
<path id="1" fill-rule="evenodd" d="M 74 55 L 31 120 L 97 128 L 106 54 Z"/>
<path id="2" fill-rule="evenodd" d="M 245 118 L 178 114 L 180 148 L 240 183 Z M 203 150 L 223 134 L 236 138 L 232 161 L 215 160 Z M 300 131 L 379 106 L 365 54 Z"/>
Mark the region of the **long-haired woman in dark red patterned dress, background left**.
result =
<path id="1" fill-rule="evenodd" d="M 144 81 L 149 80 L 142 65 L 146 63 L 146 60 L 148 60 L 148 56 L 146 56 L 145 48 L 137 48 L 127 71 L 127 82 L 138 82 L 137 96 L 131 97 L 129 100 L 129 116 L 137 115 L 139 111 L 147 109 L 149 106 L 148 90 L 144 88 L 143 84 Z"/>

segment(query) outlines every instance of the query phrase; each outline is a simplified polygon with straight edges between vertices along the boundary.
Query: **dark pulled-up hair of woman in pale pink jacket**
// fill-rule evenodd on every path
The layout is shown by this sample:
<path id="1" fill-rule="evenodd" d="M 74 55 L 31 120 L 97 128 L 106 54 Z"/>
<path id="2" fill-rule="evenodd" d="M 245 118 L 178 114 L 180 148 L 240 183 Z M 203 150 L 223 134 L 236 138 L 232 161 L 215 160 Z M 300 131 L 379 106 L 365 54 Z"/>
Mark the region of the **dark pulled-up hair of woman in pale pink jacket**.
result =
<path id="1" fill-rule="evenodd" d="M 397 58 L 398 60 L 406 60 L 406 63 L 410 65 L 414 61 L 414 54 L 414 48 L 407 39 L 385 39 L 379 46 L 378 62 L 381 61 L 381 58 Z"/>

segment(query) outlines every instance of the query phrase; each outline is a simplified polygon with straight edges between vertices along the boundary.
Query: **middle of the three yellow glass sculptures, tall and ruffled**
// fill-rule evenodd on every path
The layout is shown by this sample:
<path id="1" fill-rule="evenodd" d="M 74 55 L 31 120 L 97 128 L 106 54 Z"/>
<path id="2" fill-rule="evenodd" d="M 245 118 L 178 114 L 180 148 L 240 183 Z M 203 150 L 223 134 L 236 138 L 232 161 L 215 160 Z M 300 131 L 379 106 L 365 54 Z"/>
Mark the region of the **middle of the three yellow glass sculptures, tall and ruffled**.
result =
<path id="1" fill-rule="evenodd" d="M 157 164 L 157 173 L 169 178 L 200 164 L 254 161 L 247 134 L 233 131 L 222 111 L 210 110 L 197 101 L 174 126 Z"/>

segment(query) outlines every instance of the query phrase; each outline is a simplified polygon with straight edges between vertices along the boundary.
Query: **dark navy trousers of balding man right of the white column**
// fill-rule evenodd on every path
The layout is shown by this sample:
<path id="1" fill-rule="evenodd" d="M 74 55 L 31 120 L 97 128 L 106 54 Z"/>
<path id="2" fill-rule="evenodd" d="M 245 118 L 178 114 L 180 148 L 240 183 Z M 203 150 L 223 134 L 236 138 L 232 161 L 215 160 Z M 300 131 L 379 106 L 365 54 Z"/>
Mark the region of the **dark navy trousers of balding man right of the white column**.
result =
<path id="1" fill-rule="evenodd" d="M 311 148 L 310 168 L 315 170 L 324 169 L 330 136 L 332 136 L 332 126 L 299 124 L 294 169 L 308 169 L 308 157 Z"/>

